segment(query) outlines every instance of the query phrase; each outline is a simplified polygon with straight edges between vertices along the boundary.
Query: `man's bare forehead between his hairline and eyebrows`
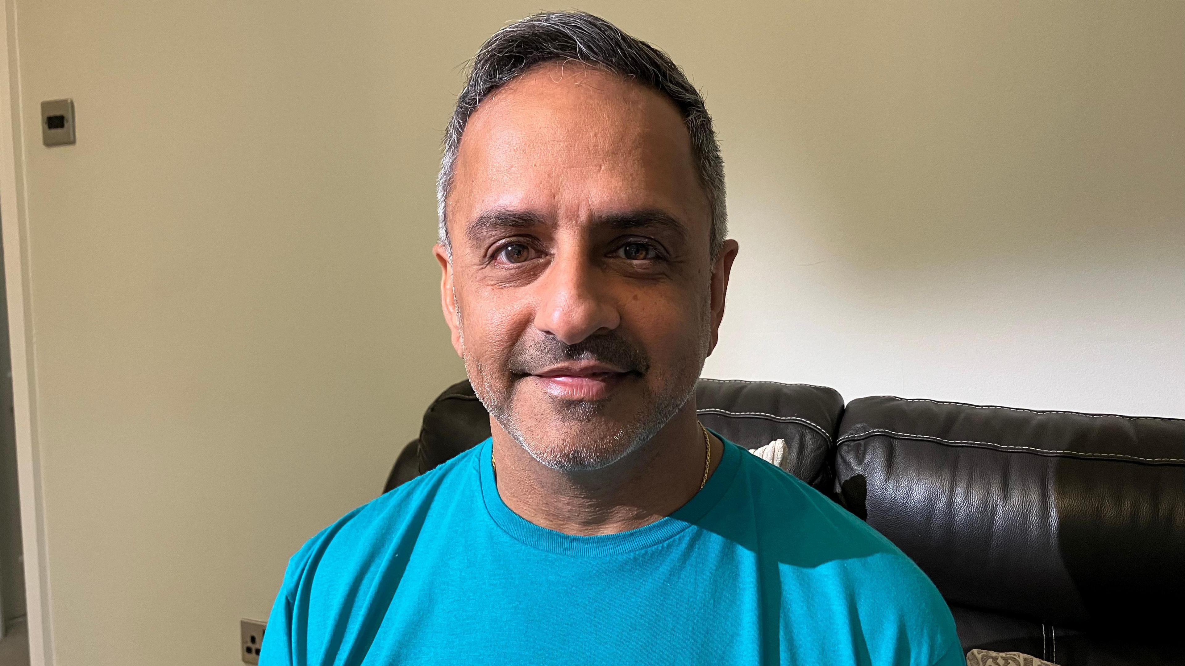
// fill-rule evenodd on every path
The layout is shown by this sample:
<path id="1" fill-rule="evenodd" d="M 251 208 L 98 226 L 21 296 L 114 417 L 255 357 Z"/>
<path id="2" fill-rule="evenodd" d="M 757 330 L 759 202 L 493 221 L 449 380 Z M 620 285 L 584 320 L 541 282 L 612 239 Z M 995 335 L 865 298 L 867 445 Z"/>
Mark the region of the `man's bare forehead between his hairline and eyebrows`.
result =
<path id="1" fill-rule="evenodd" d="M 491 210 L 556 224 L 654 210 L 698 226 L 709 216 L 674 104 L 572 63 L 536 68 L 481 103 L 462 135 L 447 205 L 450 226 Z"/>

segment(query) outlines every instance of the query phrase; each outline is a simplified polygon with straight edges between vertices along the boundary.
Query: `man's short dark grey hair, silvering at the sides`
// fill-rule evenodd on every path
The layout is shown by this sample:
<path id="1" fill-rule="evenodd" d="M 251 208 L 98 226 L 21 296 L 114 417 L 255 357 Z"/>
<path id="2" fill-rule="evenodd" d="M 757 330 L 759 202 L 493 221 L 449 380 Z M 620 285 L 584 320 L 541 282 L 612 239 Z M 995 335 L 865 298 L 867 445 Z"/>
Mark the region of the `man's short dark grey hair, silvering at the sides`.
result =
<path id="1" fill-rule="evenodd" d="M 646 85 L 674 102 L 691 136 L 691 154 L 699 182 L 707 194 L 712 226 L 709 246 L 712 258 L 728 235 L 724 205 L 724 160 L 712 129 L 712 117 L 696 87 L 654 46 L 635 39 L 611 23 L 585 12 L 542 12 L 499 30 L 481 45 L 469 69 L 468 81 L 444 132 L 444 158 L 436 178 L 440 243 L 451 255 L 444 203 L 453 186 L 461 134 L 469 117 L 487 97 L 532 68 L 550 62 L 578 62 Z"/>

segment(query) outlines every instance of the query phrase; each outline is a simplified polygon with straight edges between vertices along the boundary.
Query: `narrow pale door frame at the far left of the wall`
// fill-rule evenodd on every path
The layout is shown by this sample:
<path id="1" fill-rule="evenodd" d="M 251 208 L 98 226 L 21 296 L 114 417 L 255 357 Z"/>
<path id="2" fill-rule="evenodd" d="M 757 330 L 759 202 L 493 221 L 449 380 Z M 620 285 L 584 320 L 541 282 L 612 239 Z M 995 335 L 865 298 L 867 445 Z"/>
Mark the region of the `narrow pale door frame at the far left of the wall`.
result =
<path id="1" fill-rule="evenodd" d="M 15 0 L 4 0 L 0 15 L 0 231 L 12 354 L 13 421 L 17 428 L 17 479 L 25 558 L 25 604 L 30 666 L 53 666 L 53 623 L 46 556 L 45 502 L 38 443 L 37 377 L 30 293 L 25 123 L 21 113 L 20 56 Z M 39 121 L 38 121 L 39 123 Z"/>

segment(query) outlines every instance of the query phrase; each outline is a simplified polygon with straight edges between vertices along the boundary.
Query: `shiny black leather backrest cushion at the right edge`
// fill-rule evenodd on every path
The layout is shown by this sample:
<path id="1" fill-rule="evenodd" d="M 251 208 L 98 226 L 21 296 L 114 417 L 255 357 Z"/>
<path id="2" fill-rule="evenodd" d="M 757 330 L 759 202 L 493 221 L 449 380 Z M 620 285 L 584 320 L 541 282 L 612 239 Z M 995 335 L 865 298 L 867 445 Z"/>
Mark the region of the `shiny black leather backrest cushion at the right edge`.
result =
<path id="1" fill-rule="evenodd" d="M 1185 421 L 869 397 L 837 444 L 841 501 L 948 601 L 1104 632 L 1185 621 Z"/>

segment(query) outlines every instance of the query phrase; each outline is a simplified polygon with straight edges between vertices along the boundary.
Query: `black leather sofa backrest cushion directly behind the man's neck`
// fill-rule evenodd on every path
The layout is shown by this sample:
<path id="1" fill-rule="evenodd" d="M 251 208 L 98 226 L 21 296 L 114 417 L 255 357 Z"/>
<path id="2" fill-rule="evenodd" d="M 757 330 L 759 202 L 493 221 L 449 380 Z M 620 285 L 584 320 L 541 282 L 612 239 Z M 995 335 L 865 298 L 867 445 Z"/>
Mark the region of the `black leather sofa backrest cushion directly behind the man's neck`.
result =
<path id="1" fill-rule="evenodd" d="M 786 440 L 792 453 L 790 473 L 816 487 L 832 487 L 832 434 L 844 409 L 844 398 L 833 389 L 700 379 L 696 402 L 705 425 L 745 448 Z M 418 472 L 423 474 L 488 436 L 485 406 L 468 382 L 459 382 L 428 406 L 419 437 L 409 446 L 417 447 Z M 404 480 L 392 474 L 392 482 Z M 387 489 L 391 487 L 389 482 Z"/>

